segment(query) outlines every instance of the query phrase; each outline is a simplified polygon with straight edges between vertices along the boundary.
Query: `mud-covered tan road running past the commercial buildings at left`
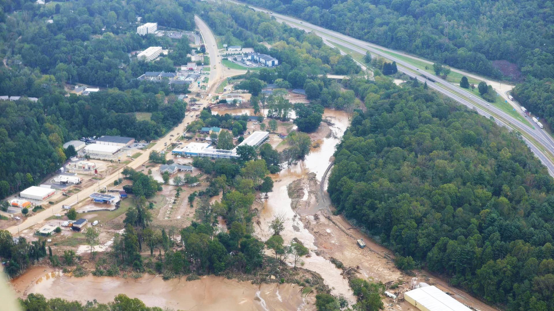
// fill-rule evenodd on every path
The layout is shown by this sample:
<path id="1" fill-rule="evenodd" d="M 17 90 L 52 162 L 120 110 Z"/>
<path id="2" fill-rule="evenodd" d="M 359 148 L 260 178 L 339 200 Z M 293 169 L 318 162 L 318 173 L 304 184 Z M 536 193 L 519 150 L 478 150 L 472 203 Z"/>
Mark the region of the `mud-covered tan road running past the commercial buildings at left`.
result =
<path id="1" fill-rule="evenodd" d="M 202 38 L 203 38 L 204 42 L 206 43 L 206 49 L 207 49 L 209 55 L 211 56 L 211 58 L 210 58 L 211 71 L 210 71 L 210 75 L 209 75 L 209 85 L 210 85 L 210 87 L 207 90 L 207 92 L 209 93 L 210 91 L 215 90 L 216 87 L 217 87 L 217 85 L 214 84 L 213 81 L 219 81 L 219 80 L 223 79 L 223 68 L 222 68 L 222 64 L 221 64 L 221 61 L 220 61 L 220 57 L 217 56 L 218 55 L 218 53 L 217 53 L 217 43 L 216 43 L 216 38 L 214 37 L 212 31 L 208 28 L 206 23 L 204 23 L 198 17 L 195 17 L 194 20 L 196 21 L 196 23 L 198 25 L 198 28 L 201 31 Z M 218 59 L 219 59 L 219 62 L 217 61 Z M 216 65 L 216 69 L 213 69 L 214 65 Z M 207 106 L 208 103 L 209 103 L 208 97 L 204 97 L 204 99 L 199 101 L 199 103 L 202 104 L 201 108 Z M 162 149 L 165 149 L 165 146 L 164 146 L 165 143 L 167 143 L 168 146 L 170 146 L 171 145 L 171 136 L 178 137 L 177 133 L 184 132 L 184 128 L 186 127 L 187 123 L 196 120 L 195 116 L 196 116 L 196 113 L 194 113 L 194 112 L 190 113 L 189 115 L 186 115 L 184 117 L 183 121 L 179 125 L 174 127 L 171 131 L 167 132 L 165 136 L 158 139 L 158 141 L 156 142 L 156 144 L 154 146 L 152 146 L 151 148 L 143 151 L 142 154 L 139 157 L 137 157 L 135 160 L 132 160 L 131 163 L 127 164 L 126 166 L 140 171 L 142 169 L 142 164 L 148 162 L 148 155 L 150 154 L 150 152 L 152 150 L 161 151 Z M 123 168 L 121 168 L 120 170 L 122 170 L 122 169 Z M 116 170 L 112 174 L 107 175 L 106 177 L 104 177 L 102 180 L 99 180 L 98 183 L 96 183 L 94 185 L 91 185 L 88 188 L 85 188 L 85 189 L 79 191 L 80 201 L 88 200 L 89 195 L 95 193 L 96 191 L 99 191 L 99 189 L 104 188 L 104 186 L 107 186 L 107 187 L 111 188 L 114 184 L 114 180 L 117 180 L 117 178 L 119 177 L 120 170 Z M 33 216 L 28 217 L 24 221 L 19 222 L 18 224 L 9 227 L 8 231 L 12 235 L 16 235 L 19 230 L 24 230 L 24 229 L 27 229 L 30 226 L 34 226 L 36 224 L 39 224 L 40 222 L 43 222 L 48 217 L 51 217 L 53 214 L 62 214 L 62 213 L 64 213 L 64 210 L 61 208 L 61 205 L 65 205 L 65 204 L 66 205 L 75 204 L 75 198 L 73 196 L 70 196 L 69 198 L 67 198 L 63 201 L 60 201 L 59 203 L 57 203 L 55 205 L 52 205 L 52 207 L 49 208 L 50 209 L 49 211 L 45 210 L 45 211 L 39 212 L 37 214 L 34 214 Z"/>

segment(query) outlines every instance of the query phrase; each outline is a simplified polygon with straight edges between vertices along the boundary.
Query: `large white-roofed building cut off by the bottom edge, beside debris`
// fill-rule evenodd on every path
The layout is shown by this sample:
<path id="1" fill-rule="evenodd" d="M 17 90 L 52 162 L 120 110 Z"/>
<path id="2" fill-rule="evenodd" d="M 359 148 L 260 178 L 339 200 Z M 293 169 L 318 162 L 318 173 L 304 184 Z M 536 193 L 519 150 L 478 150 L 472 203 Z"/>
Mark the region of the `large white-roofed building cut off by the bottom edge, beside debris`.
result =
<path id="1" fill-rule="evenodd" d="M 419 288 L 404 293 L 404 300 L 422 311 L 471 311 L 458 300 L 435 286 L 420 283 Z"/>

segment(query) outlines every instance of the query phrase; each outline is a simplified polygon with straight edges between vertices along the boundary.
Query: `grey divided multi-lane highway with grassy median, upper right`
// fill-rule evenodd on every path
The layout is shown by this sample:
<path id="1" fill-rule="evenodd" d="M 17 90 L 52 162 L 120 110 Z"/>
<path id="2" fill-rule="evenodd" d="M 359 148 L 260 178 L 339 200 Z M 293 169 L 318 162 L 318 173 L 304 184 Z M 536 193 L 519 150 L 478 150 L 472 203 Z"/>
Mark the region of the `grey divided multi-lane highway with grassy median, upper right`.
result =
<path id="1" fill-rule="evenodd" d="M 244 3 L 230 1 L 230 0 L 228 1 L 240 4 L 240 5 L 244 4 Z M 250 5 L 248 6 L 254 9 L 255 11 L 268 12 L 267 9 L 257 8 Z M 387 53 L 384 53 L 383 51 L 402 54 L 402 56 L 406 56 L 412 59 L 417 59 L 420 61 L 424 61 L 425 63 L 432 64 L 427 60 L 419 59 L 412 55 L 399 53 L 398 51 L 387 49 L 387 48 L 384 48 L 383 46 L 364 42 L 362 40 L 358 40 L 358 39 L 349 37 L 347 35 L 334 32 L 332 30 L 325 29 L 317 25 L 305 22 L 304 20 L 289 17 L 283 14 L 278 14 L 275 12 L 273 12 L 271 15 L 275 17 L 279 22 L 284 22 L 286 24 L 294 26 L 295 28 L 305 30 L 306 32 L 314 32 L 315 34 L 319 35 L 322 39 L 324 39 L 324 42 L 329 45 L 332 45 L 330 43 L 340 44 L 342 46 L 345 46 L 348 49 L 357 51 L 358 53 L 365 54 L 366 51 L 369 51 L 373 55 L 378 55 L 388 60 L 396 61 L 399 71 L 403 72 L 404 74 L 412 78 L 416 78 L 422 82 L 425 79 L 422 76 L 419 76 L 420 70 L 416 66 L 406 63 L 406 61 L 398 59 Z M 455 71 L 465 74 L 465 72 L 460 70 L 455 70 Z M 550 175 L 554 177 L 554 163 L 545 154 L 545 152 L 548 152 L 550 155 L 554 155 L 554 139 L 543 129 L 538 128 L 538 126 L 535 127 L 534 129 L 529 127 L 525 123 L 508 115 L 506 112 L 500 110 L 499 108 L 491 106 L 488 102 L 480 98 L 476 98 L 476 96 L 471 94 L 470 92 L 436 75 L 429 74 L 428 72 L 421 72 L 421 73 L 427 77 L 430 77 L 434 81 L 437 81 L 437 83 L 428 81 L 428 86 L 434 89 L 435 91 L 438 91 L 441 94 L 448 96 L 451 99 L 458 101 L 465 106 L 468 106 L 469 108 L 478 112 L 480 115 L 483 115 L 485 117 L 493 116 L 495 118 L 496 123 L 498 123 L 499 125 L 506 126 L 510 129 L 516 129 L 517 131 L 522 133 L 522 137 L 525 139 L 525 141 L 531 148 L 531 151 L 533 151 L 537 155 L 537 157 L 541 160 L 541 162 L 547 167 L 548 173 L 550 173 Z M 470 74 L 468 74 L 468 76 L 469 75 Z M 471 76 L 477 77 L 475 75 L 471 75 Z M 521 118 L 524 118 L 524 116 L 521 113 L 520 113 L 520 116 Z M 532 123 L 531 120 L 529 121 Z M 540 144 L 540 146 L 536 146 L 535 142 L 533 142 L 529 138 L 534 139 L 538 144 Z"/>

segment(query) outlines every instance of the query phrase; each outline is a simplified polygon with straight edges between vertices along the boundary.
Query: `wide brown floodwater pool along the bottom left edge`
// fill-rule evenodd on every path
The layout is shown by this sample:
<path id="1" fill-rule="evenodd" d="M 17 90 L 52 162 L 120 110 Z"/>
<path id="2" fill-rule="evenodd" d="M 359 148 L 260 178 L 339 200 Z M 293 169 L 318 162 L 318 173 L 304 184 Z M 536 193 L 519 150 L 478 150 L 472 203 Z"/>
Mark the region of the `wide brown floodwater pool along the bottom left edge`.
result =
<path id="1" fill-rule="evenodd" d="M 40 267 L 42 269 L 42 267 Z M 163 281 L 145 274 L 137 279 L 120 277 L 72 277 L 60 271 L 44 272 L 28 288 L 46 298 L 113 301 L 117 294 L 140 298 L 148 307 L 180 310 L 313 310 L 302 289 L 293 284 L 239 282 L 224 277 L 206 276 L 187 282 L 185 278 Z"/>

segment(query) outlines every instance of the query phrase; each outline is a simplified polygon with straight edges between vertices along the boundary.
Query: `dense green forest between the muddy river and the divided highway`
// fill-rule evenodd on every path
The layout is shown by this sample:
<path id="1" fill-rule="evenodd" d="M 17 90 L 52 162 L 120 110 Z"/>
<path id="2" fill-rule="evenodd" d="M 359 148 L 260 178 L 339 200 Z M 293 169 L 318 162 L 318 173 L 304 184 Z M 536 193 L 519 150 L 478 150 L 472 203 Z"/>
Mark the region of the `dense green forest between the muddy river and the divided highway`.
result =
<path id="1" fill-rule="evenodd" d="M 417 87 L 349 81 L 329 194 L 398 256 L 509 310 L 551 310 L 554 181 L 515 133 Z"/>

